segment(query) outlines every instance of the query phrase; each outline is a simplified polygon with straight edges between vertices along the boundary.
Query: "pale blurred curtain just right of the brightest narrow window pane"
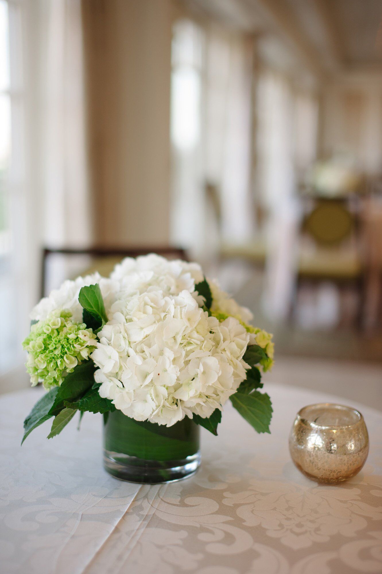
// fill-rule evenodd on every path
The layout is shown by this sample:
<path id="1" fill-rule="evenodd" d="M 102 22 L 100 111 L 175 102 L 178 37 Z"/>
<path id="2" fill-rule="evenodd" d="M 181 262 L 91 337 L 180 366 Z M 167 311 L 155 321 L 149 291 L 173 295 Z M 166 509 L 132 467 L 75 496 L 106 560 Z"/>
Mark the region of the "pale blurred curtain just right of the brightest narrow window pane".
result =
<path id="1" fill-rule="evenodd" d="M 220 200 L 220 241 L 255 234 L 252 186 L 254 36 L 210 26 L 205 65 L 205 176 Z M 211 217 L 208 227 L 211 227 Z M 212 243 L 211 229 L 207 242 Z"/>

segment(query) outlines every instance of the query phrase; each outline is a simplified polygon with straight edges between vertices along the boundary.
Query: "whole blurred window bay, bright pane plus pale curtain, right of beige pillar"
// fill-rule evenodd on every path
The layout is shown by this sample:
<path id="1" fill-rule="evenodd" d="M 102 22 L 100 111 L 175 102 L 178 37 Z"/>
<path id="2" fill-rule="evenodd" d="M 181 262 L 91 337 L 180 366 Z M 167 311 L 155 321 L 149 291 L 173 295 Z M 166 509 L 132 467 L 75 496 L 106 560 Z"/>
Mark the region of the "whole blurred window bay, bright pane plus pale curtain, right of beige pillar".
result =
<path id="1" fill-rule="evenodd" d="M 252 232 L 254 49 L 251 38 L 215 24 L 173 26 L 171 240 L 194 257 Z"/>

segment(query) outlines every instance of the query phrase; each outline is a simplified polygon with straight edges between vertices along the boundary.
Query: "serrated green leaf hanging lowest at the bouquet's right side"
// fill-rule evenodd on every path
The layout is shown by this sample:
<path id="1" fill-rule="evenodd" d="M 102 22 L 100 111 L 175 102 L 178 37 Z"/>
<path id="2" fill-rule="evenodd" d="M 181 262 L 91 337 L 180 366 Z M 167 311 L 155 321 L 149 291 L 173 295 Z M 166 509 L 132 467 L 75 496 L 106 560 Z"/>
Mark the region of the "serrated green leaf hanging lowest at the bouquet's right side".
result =
<path id="1" fill-rule="evenodd" d="M 257 432 L 270 433 L 269 425 L 272 418 L 272 404 L 266 393 L 253 391 L 251 394 L 239 393 L 229 397 L 232 405 Z"/>

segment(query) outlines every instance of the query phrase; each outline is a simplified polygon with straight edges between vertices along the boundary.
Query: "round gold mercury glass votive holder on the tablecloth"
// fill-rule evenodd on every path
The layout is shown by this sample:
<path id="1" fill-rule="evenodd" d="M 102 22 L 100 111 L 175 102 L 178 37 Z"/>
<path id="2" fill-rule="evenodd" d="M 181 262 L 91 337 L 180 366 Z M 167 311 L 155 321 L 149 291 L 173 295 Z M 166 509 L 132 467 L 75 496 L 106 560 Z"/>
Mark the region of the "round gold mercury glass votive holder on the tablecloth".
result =
<path id="1" fill-rule="evenodd" d="M 295 466 L 316 482 L 336 483 L 360 472 L 369 453 L 364 417 L 349 406 L 321 403 L 301 409 L 289 436 Z"/>

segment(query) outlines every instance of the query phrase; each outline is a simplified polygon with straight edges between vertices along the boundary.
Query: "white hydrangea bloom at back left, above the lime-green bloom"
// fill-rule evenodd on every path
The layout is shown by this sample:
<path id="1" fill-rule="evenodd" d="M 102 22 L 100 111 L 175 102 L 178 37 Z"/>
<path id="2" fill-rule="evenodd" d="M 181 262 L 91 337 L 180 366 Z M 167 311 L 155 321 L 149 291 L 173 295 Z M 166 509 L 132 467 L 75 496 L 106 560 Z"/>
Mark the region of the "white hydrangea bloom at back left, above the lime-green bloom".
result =
<path id="1" fill-rule="evenodd" d="M 64 281 L 59 289 L 53 289 L 49 297 L 44 297 L 38 302 L 30 313 L 30 319 L 45 321 L 53 311 L 67 309 L 72 313 L 72 321 L 81 323 L 83 308 L 78 300 L 80 289 L 85 285 L 96 283 L 100 286 L 107 312 L 112 302 L 115 301 L 115 293 L 119 290 L 119 284 L 101 277 L 99 273 L 94 273 L 86 277 L 77 277 L 74 281 Z"/>

